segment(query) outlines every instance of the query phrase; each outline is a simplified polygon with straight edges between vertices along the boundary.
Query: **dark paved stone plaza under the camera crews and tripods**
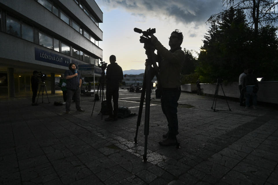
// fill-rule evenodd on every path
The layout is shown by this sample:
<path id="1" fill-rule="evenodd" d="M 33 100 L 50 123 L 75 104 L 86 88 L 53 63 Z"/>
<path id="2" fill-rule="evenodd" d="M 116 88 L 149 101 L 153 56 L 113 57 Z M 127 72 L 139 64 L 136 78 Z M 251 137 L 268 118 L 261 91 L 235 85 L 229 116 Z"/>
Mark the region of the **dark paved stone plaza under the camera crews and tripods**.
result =
<path id="1" fill-rule="evenodd" d="M 154 95 L 154 93 L 152 93 Z M 229 100 L 182 92 L 180 149 L 161 147 L 167 132 L 160 101 L 151 101 L 147 162 L 144 111 L 138 145 L 137 116 L 101 120 L 101 101 L 81 96 L 77 112 L 65 114 L 62 94 L 31 106 L 31 97 L 0 99 L 0 184 L 278 184 L 278 110 L 239 107 Z M 138 113 L 140 93 L 120 90 L 119 106 Z M 144 108 L 145 109 L 145 108 Z M 104 116 L 107 117 L 107 116 Z"/>

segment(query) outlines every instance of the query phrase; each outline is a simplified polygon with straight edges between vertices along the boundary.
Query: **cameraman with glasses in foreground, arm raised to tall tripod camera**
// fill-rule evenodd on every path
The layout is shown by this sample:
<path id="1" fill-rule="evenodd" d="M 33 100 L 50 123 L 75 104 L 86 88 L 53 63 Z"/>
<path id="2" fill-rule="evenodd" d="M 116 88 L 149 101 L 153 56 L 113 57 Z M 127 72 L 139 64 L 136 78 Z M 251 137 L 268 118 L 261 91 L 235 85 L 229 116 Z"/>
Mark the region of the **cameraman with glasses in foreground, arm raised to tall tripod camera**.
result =
<path id="1" fill-rule="evenodd" d="M 176 138 L 176 135 L 179 134 L 177 108 L 181 93 L 180 73 L 185 61 L 185 54 L 180 47 L 182 41 L 182 32 L 175 29 L 169 37 L 171 49 L 168 50 L 158 41 L 156 36 L 151 34 L 151 43 L 161 57 L 161 61 L 159 61 L 159 87 L 162 88 L 161 108 L 168 121 L 168 132 L 162 135 L 166 139 L 158 142 L 161 146 L 171 146 L 178 143 Z"/>

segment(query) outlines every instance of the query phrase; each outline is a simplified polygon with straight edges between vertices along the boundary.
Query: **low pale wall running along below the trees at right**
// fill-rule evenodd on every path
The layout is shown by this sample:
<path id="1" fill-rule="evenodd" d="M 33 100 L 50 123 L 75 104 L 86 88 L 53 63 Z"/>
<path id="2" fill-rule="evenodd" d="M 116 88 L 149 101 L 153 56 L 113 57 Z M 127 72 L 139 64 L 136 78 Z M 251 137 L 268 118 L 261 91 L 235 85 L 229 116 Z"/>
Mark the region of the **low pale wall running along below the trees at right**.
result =
<path id="1" fill-rule="evenodd" d="M 258 82 L 259 91 L 257 93 L 257 100 L 267 103 L 278 104 L 278 81 L 273 82 Z M 228 85 L 222 84 L 224 93 L 227 97 L 239 98 L 238 83 L 232 83 Z M 204 89 L 204 94 L 214 95 L 216 84 L 201 84 L 201 88 Z M 184 84 L 181 85 L 182 91 L 192 92 L 197 90 L 196 84 Z M 222 88 L 220 86 L 218 95 L 224 96 Z"/>

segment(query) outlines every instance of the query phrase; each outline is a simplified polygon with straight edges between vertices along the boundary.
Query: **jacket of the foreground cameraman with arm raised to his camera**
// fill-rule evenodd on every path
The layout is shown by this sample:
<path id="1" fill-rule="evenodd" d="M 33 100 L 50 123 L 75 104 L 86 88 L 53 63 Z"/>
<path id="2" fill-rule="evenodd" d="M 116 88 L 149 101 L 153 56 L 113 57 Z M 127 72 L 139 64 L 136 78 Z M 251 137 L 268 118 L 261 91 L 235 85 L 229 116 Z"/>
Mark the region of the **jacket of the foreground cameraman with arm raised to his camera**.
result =
<path id="1" fill-rule="evenodd" d="M 185 54 L 179 47 L 168 50 L 159 41 L 154 43 L 155 48 L 161 55 L 160 62 L 160 87 L 162 88 L 180 88 L 180 73 L 185 60 Z"/>

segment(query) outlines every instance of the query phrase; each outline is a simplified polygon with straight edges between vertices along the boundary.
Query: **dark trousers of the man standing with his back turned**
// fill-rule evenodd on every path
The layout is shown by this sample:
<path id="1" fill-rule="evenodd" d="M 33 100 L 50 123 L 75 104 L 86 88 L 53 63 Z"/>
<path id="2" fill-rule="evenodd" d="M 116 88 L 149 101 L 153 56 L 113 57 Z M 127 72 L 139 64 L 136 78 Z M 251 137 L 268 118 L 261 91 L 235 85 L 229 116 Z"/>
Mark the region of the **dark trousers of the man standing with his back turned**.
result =
<path id="1" fill-rule="evenodd" d="M 114 111 L 112 108 L 112 96 L 113 96 L 113 104 L 114 104 Z M 119 86 L 106 86 L 106 102 L 109 117 L 117 117 L 118 115 L 118 99 L 119 99 Z"/>

